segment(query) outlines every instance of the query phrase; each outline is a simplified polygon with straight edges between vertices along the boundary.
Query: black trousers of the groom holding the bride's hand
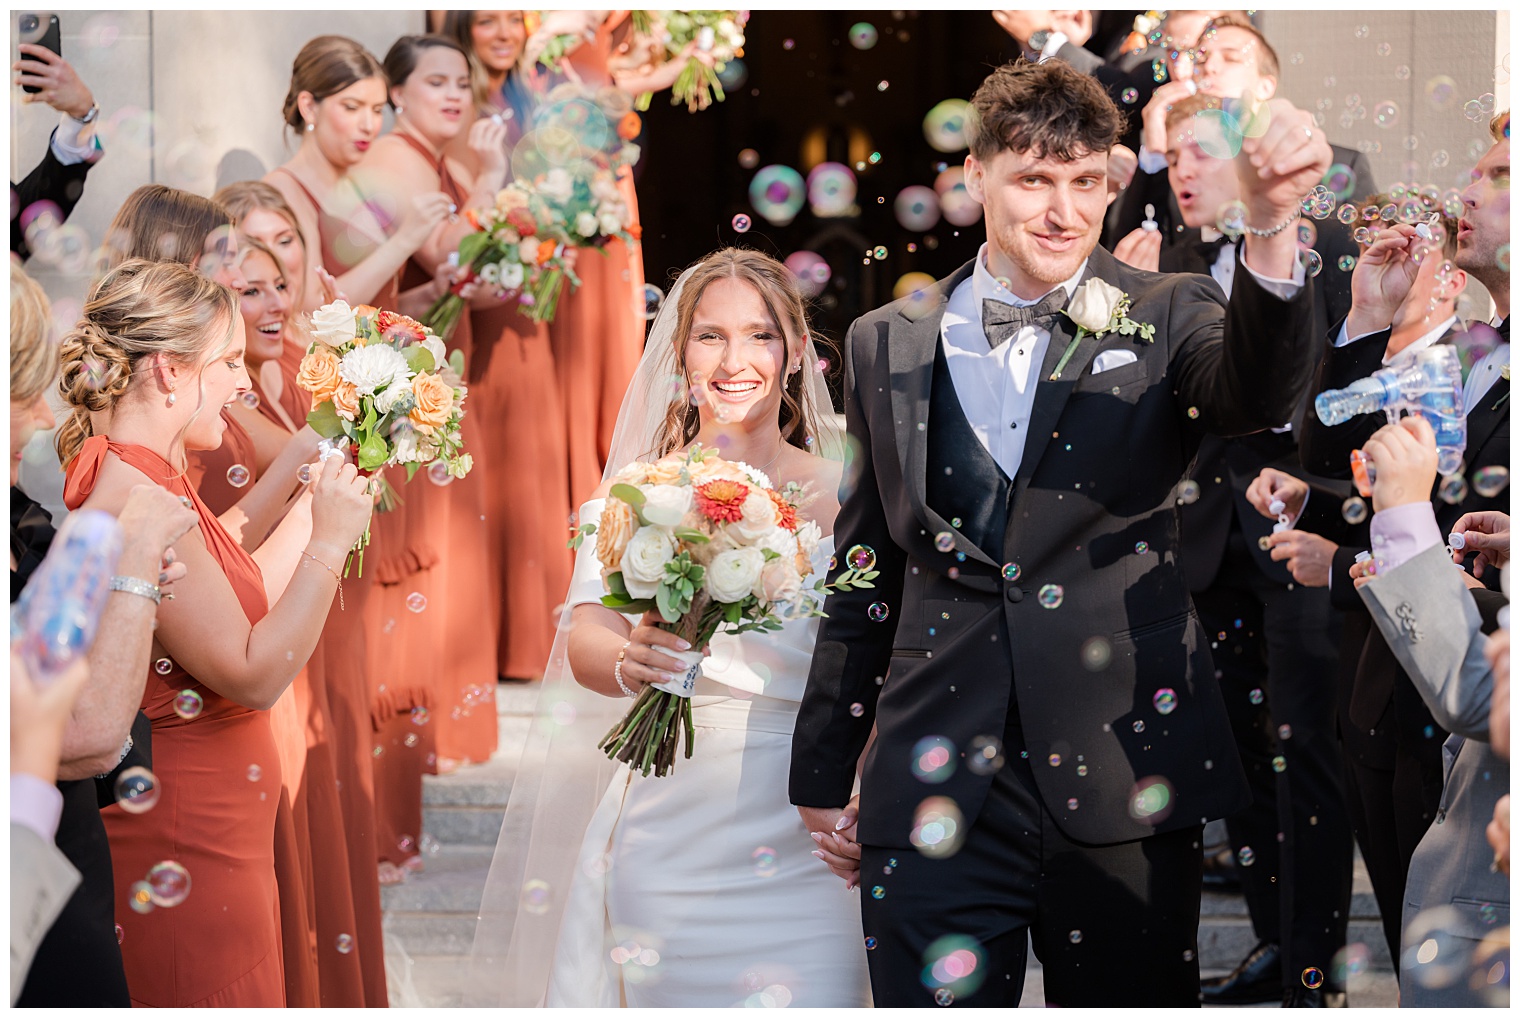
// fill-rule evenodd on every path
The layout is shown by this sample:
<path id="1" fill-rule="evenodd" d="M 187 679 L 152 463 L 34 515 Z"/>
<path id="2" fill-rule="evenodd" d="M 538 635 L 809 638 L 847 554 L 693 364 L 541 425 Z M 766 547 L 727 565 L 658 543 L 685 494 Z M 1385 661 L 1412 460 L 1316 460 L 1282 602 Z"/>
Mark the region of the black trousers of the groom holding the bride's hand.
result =
<path id="1" fill-rule="evenodd" d="M 929 858 L 912 848 L 862 846 L 876 1006 L 1017 1006 L 1032 936 L 1050 1004 L 1196 1007 L 1202 825 L 1079 845 L 1041 805 L 1031 764 L 1049 761 L 1021 755 L 1014 720 L 1003 751 L 1006 763 L 958 852 Z M 932 796 L 933 786 L 923 792 Z M 952 1001 L 935 998 L 942 989 Z"/>

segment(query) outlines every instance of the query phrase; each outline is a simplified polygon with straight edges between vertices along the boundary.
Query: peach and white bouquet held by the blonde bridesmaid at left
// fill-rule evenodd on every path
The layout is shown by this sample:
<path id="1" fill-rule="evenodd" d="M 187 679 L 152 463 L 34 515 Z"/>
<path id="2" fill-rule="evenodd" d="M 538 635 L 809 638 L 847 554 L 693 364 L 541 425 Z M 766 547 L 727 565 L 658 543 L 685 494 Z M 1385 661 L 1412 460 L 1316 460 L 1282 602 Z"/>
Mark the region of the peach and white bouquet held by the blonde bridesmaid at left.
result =
<path id="1" fill-rule="evenodd" d="M 461 351 L 448 354 L 426 325 L 368 304 L 324 304 L 312 315 L 310 328 L 296 384 L 312 394 L 306 421 L 318 435 L 347 441 L 366 474 L 404 465 L 412 480 L 429 463 L 430 471 L 450 479 L 470 473 L 473 462 L 459 435 L 465 401 Z M 383 492 L 382 511 L 394 500 L 394 492 Z M 360 574 L 368 542 L 366 529 L 354 545 Z"/>

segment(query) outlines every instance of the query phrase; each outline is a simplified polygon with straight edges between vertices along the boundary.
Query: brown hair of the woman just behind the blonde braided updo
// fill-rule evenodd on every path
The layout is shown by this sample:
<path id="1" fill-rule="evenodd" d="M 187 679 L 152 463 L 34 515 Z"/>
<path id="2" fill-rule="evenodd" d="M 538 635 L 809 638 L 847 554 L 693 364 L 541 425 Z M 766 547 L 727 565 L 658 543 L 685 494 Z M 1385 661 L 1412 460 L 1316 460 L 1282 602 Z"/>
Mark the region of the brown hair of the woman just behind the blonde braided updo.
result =
<path id="1" fill-rule="evenodd" d="M 225 246 L 231 229 L 233 214 L 210 198 L 144 184 L 126 196 L 106 228 L 106 267 L 129 258 L 199 267 L 210 248 Z"/>

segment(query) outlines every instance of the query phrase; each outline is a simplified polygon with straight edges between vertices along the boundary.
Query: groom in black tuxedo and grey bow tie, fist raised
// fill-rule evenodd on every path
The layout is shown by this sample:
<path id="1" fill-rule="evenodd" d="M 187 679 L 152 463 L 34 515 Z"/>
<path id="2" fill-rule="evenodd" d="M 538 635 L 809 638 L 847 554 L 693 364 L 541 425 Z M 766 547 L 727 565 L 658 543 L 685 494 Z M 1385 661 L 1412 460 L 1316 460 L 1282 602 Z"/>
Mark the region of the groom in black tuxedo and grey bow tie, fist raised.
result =
<path id="1" fill-rule="evenodd" d="M 1052 1004 L 1195 1007 L 1201 828 L 1248 793 L 1175 506 L 1204 433 L 1281 425 L 1307 386 L 1294 222 L 1330 147 L 1281 100 L 1246 131 L 1227 307 L 1207 277 L 1097 249 L 1122 129 L 1097 82 L 1018 62 L 971 102 L 986 245 L 936 302 L 845 343 L 834 539 L 880 576 L 828 599 L 790 798 L 824 848 L 854 836 L 876 726 L 857 840 L 877 1006 L 1015 1004 L 1032 936 Z"/>

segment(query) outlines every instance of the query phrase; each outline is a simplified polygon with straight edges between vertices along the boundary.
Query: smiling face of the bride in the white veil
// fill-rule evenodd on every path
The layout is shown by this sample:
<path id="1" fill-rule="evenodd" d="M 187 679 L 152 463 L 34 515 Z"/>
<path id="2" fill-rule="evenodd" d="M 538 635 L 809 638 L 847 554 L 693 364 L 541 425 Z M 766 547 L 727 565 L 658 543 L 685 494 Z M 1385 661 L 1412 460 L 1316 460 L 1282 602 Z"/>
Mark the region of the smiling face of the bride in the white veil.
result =
<path id="1" fill-rule="evenodd" d="M 686 381 L 702 422 L 778 425 L 787 337 L 760 292 L 725 277 L 702 290 L 686 340 Z"/>

